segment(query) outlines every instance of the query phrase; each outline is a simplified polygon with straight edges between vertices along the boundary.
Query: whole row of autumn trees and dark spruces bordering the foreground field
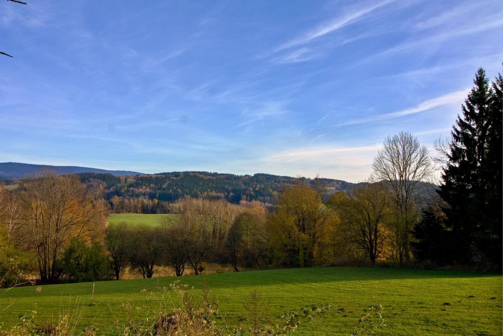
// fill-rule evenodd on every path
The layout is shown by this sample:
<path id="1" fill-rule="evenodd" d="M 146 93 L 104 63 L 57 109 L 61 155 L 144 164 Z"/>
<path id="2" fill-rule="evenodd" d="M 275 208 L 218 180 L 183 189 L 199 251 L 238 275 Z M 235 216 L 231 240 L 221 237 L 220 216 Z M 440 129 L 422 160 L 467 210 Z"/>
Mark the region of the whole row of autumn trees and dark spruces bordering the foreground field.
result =
<path id="1" fill-rule="evenodd" d="M 41 282 L 119 279 L 125 269 L 150 278 L 158 266 L 197 275 L 209 263 L 236 272 L 345 263 L 500 269 L 502 88 L 500 74 L 491 82 L 480 68 L 435 157 L 408 132 L 388 136 L 372 175 L 348 191 L 298 178 L 274 204 L 185 197 L 163 205 L 178 220 L 148 227 L 107 225 L 110 203 L 89 177 L 46 172 L 2 189 L 3 285 L 30 263 Z"/>

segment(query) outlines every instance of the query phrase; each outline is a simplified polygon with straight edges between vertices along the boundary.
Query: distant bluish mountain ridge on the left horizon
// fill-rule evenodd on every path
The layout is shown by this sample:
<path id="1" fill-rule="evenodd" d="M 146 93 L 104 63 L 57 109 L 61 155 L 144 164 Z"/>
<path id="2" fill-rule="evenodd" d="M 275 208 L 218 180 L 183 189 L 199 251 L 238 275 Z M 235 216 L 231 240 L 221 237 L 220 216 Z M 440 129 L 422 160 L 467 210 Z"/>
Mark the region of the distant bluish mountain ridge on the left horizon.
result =
<path id="1" fill-rule="evenodd" d="M 22 179 L 30 177 L 31 175 L 39 173 L 44 169 L 54 170 L 61 174 L 108 173 L 115 176 L 143 174 L 132 171 L 110 171 L 106 169 L 79 167 L 74 165 L 47 165 L 47 164 L 31 164 L 31 163 L 20 163 L 20 162 L 0 162 L 0 180 L 14 180 L 14 179 Z"/>

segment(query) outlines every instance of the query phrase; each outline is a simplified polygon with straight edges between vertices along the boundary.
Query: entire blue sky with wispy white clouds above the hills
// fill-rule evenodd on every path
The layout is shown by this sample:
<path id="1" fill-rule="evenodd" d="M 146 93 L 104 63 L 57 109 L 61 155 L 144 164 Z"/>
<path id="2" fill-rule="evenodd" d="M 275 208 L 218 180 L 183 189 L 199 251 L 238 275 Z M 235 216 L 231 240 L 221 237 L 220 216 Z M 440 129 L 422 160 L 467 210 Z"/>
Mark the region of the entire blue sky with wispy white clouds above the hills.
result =
<path id="1" fill-rule="evenodd" d="M 503 61 L 500 1 L 26 1 L 0 5 L 0 161 L 362 181 Z"/>

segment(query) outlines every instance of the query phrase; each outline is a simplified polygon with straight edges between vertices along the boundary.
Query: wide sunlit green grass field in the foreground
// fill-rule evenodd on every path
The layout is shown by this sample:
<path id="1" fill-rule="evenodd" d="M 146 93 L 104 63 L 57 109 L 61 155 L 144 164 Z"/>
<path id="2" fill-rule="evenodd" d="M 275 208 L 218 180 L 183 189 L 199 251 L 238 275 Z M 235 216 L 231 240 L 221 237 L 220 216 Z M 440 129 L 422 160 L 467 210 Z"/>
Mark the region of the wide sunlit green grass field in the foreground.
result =
<path id="1" fill-rule="evenodd" d="M 502 290 L 500 275 L 458 271 L 416 271 L 374 268 L 311 268 L 252 271 L 206 275 L 207 284 L 216 293 L 220 311 L 229 319 L 229 328 L 243 315 L 243 299 L 257 289 L 270 300 L 270 318 L 302 306 L 328 303 L 334 307 L 315 321 L 302 323 L 295 334 L 348 335 L 358 322 L 357 313 L 368 304 L 381 304 L 386 327 L 382 335 L 501 335 Z M 51 321 L 61 304 L 80 297 L 86 304 L 84 324 L 104 327 L 113 320 L 110 308 L 117 312 L 121 303 L 141 306 L 143 288 L 169 286 L 175 280 L 194 286 L 199 292 L 203 276 L 154 278 L 97 282 L 94 301 L 92 283 L 14 288 L 0 297 L 2 306 L 14 302 L 1 319 L 8 323 L 31 311 L 37 304 L 37 321 Z M 469 296 L 474 296 L 469 298 Z M 491 299 L 495 297 L 495 299 Z M 444 305 L 450 303 L 450 305 Z M 152 306 L 152 308 L 154 308 Z M 344 308 L 344 310 L 339 310 Z M 442 311 L 442 309 L 446 309 Z M 347 316 L 344 316 L 347 315 Z"/>

